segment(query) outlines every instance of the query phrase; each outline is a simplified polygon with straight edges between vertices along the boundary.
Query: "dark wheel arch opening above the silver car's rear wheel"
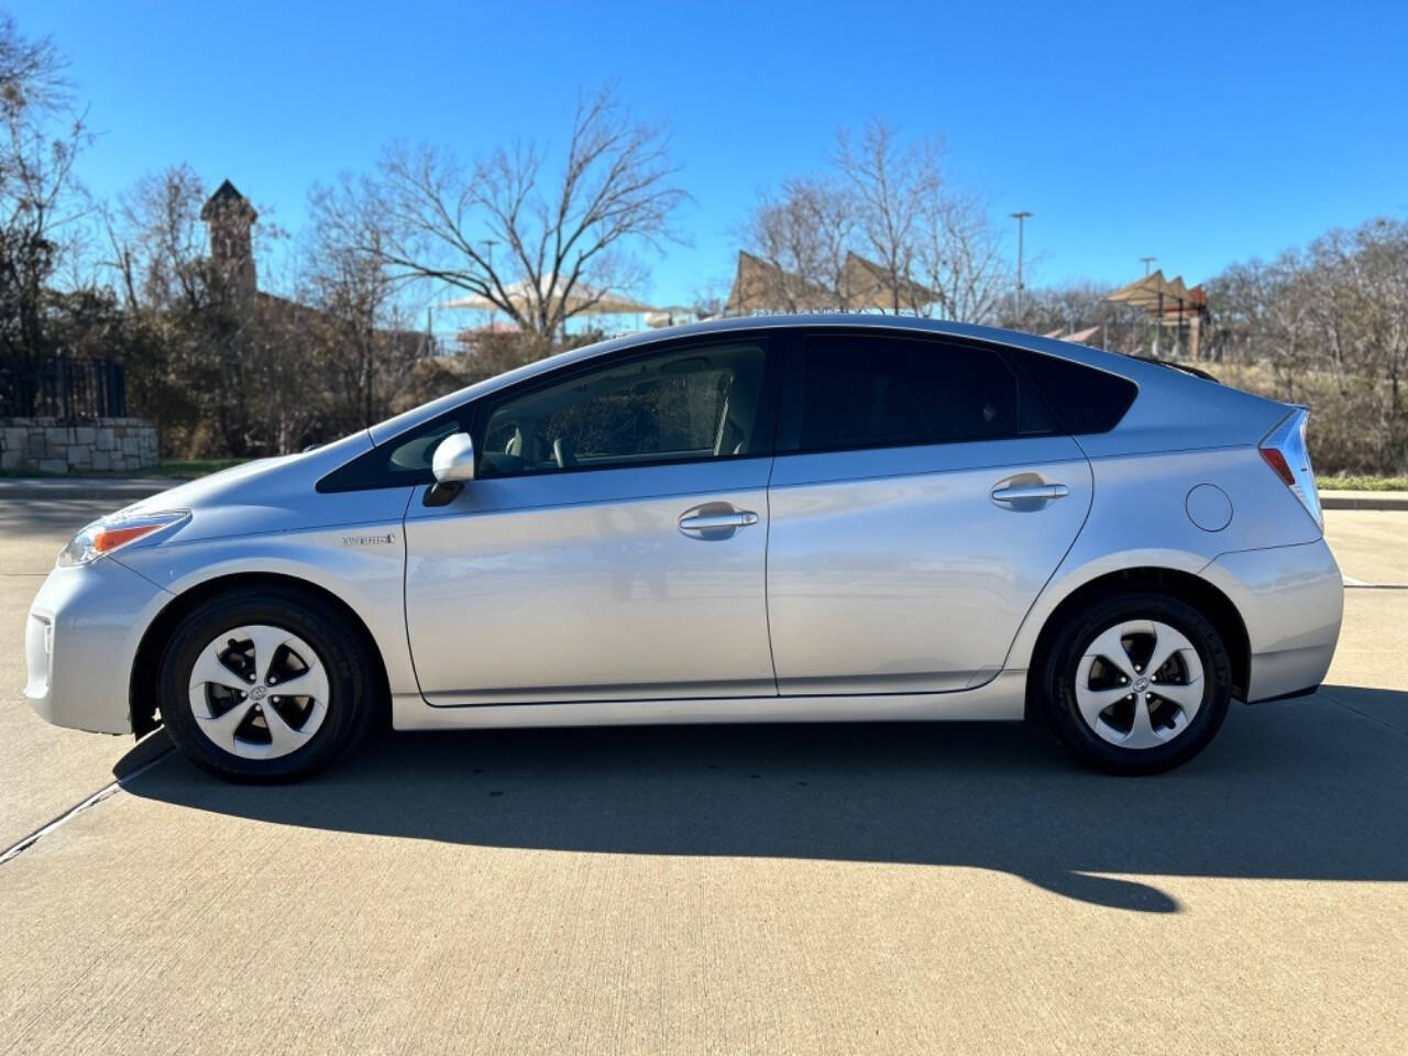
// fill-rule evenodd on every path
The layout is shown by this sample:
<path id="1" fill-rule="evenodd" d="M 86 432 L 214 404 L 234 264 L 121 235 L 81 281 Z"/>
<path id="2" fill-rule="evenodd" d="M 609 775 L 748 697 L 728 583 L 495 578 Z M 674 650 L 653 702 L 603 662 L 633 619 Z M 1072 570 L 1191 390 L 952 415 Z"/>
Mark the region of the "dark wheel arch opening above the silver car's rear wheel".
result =
<path id="1" fill-rule="evenodd" d="M 1083 608 L 1132 591 L 1152 591 L 1198 610 L 1222 639 L 1232 662 L 1232 696 L 1245 700 L 1252 676 L 1252 645 L 1242 614 L 1226 594 L 1193 572 L 1163 566 L 1135 566 L 1095 576 L 1071 590 L 1046 615 L 1026 665 L 1026 707 L 1038 697 L 1038 683 L 1060 628 Z"/>

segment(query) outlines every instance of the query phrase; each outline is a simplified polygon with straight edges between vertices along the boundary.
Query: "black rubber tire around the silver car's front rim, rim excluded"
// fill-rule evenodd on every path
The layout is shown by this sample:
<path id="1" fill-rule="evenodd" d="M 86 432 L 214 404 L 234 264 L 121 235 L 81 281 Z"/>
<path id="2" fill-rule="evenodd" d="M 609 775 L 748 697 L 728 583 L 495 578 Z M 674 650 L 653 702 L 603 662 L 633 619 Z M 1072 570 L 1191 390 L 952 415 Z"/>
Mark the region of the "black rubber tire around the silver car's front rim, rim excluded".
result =
<path id="1" fill-rule="evenodd" d="M 265 624 L 291 631 L 322 662 L 328 677 L 327 714 L 317 732 L 289 755 L 246 759 L 214 743 L 196 722 L 190 676 L 201 650 L 234 628 Z M 296 589 L 252 587 L 218 596 L 176 625 L 162 655 L 159 707 L 172 742 L 200 769 L 231 781 L 291 781 L 321 770 L 366 734 L 379 680 L 360 627 Z"/>

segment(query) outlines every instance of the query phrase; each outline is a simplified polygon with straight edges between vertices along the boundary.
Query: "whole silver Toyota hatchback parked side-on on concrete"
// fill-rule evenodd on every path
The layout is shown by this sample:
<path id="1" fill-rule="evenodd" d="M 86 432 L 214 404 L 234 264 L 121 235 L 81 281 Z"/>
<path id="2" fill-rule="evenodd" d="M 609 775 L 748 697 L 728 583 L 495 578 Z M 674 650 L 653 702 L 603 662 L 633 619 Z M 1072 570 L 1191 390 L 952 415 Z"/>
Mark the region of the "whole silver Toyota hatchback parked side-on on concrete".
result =
<path id="1" fill-rule="evenodd" d="M 25 693 L 244 780 L 387 701 L 397 729 L 1041 717 L 1163 770 L 1329 667 L 1305 421 L 957 324 L 608 341 L 89 525 Z"/>

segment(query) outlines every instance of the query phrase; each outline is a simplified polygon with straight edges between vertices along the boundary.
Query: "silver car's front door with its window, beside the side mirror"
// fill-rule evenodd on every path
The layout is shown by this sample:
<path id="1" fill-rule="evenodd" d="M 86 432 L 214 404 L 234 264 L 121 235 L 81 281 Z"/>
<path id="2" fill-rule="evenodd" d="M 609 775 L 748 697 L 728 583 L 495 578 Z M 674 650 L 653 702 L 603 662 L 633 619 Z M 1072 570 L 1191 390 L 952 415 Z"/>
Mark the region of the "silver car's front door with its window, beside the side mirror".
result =
<path id="1" fill-rule="evenodd" d="M 765 356 L 676 345 L 476 408 L 477 479 L 406 521 L 431 704 L 776 693 Z"/>

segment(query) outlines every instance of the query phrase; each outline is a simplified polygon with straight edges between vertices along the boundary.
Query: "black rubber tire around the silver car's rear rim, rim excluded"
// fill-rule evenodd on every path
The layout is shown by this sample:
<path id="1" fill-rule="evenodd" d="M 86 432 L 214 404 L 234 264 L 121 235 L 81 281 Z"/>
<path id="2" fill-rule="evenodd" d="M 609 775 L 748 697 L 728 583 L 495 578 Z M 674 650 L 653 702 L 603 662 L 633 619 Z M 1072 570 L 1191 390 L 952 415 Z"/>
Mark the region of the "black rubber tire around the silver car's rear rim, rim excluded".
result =
<path id="1" fill-rule="evenodd" d="M 1160 621 L 1181 632 L 1202 665 L 1204 693 L 1197 714 L 1177 736 L 1153 748 L 1110 743 L 1091 729 L 1076 703 L 1076 677 L 1086 650 L 1102 632 L 1132 620 Z M 1195 608 L 1166 594 L 1125 594 L 1093 604 L 1067 621 L 1039 676 L 1039 704 L 1057 739 L 1087 766 L 1117 774 L 1159 773 L 1188 762 L 1217 735 L 1232 698 L 1232 662 L 1217 629 Z"/>

